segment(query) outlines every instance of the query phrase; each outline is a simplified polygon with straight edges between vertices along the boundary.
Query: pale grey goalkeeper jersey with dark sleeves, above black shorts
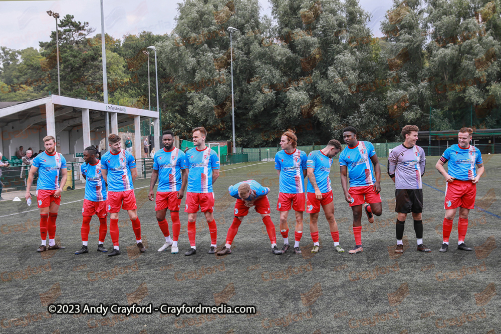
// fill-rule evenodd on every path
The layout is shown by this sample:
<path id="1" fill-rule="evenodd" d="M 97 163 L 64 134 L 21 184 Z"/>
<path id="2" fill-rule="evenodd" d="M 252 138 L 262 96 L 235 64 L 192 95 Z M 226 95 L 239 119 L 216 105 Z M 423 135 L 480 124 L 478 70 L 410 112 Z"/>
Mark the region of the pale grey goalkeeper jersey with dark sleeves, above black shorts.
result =
<path id="1" fill-rule="evenodd" d="M 398 145 L 388 157 L 388 175 L 395 176 L 396 189 L 422 189 L 425 166 L 424 150 L 417 145 L 411 148 Z"/>

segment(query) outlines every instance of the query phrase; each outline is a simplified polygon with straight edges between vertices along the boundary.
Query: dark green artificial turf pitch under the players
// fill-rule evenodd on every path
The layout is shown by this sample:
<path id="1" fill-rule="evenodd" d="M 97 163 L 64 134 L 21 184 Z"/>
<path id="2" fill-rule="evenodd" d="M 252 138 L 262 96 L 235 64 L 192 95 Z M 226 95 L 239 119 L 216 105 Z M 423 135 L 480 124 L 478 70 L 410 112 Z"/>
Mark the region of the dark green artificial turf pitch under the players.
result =
<path id="1" fill-rule="evenodd" d="M 91 222 L 89 253 L 80 249 L 83 190 L 63 193 L 57 221 L 58 243 L 65 250 L 37 253 L 40 245 L 39 213 L 25 202 L 2 202 L 0 207 L 2 249 L 0 291 L 1 332 L 392 332 L 493 333 L 501 326 L 500 301 L 496 292 L 500 254 L 499 172 L 501 156 L 483 156 L 486 172 L 481 178 L 476 203 L 482 209 L 470 212 L 466 244 L 471 252 L 458 251 L 457 217 L 449 251 L 439 253 L 444 216 L 444 180 L 435 170 L 437 157 L 427 161 L 423 182 L 424 243 L 431 253 L 416 252 L 410 217 L 404 233 L 404 253 L 393 252 L 395 245 L 394 185 L 381 159 L 383 214 L 374 224 L 362 220 L 364 251 L 348 254 L 354 246 L 352 214 L 341 190 L 338 161 L 331 180 L 341 246 L 337 253 L 322 214 L 319 218 L 321 250 L 313 255 L 308 215 L 305 213 L 302 255 L 291 250 L 284 255 L 271 253 L 264 224 L 250 210 L 236 235 L 232 253 L 224 257 L 207 254 L 210 237 L 205 219 L 197 220 L 197 254 L 183 255 L 189 248 L 187 215 L 180 213 L 180 253 L 159 253 L 163 235 L 155 219 L 154 203 L 147 200 L 148 188 L 135 191 L 142 239 L 147 247 L 140 254 L 132 225 L 125 212 L 120 214 L 120 256 L 110 258 L 96 252 L 98 220 Z M 278 176 L 273 162 L 225 166 L 214 185 L 218 245 L 222 245 L 233 218 L 234 199 L 229 185 L 249 178 L 271 188 L 272 220 L 278 231 L 275 210 Z M 149 185 L 138 180 L 136 188 Z M 438 189 L 438 190 L 437 190 Z M 184 200 L 183 204 L 184 206 Z M 497 217 L 496 217 L 497 215 Z M 290 242 L 294 242 L 294 214 L 289 217 Z M 170 217 L 168 217 L 171 228 Z M 105 245 L 111 248 L 109 233 Z M 254 315 L 162 315 L 129 316 L 108 314 L 61 315 L 47 313 L 48 303 L 129 305 L 151 303 L 169 305 L 255 305 Z M 497 329 L 499 330 L 499 329 Z"/>

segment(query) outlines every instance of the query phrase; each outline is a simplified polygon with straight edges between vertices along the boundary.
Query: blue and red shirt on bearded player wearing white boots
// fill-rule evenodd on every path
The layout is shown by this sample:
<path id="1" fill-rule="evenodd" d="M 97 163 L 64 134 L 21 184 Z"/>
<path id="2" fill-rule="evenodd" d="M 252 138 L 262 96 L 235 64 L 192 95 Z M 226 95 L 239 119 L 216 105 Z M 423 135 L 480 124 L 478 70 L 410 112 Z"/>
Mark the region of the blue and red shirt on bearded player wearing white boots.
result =
<path id="1" fill-rule="evenodd" d="M 165 148 L 157 151 L 153 158 L 153 169 L 158 170 L 157 191 L 181 190 L 181 169 L 184 169 L 184 152 L 173 147 L 167 151 Z"/>

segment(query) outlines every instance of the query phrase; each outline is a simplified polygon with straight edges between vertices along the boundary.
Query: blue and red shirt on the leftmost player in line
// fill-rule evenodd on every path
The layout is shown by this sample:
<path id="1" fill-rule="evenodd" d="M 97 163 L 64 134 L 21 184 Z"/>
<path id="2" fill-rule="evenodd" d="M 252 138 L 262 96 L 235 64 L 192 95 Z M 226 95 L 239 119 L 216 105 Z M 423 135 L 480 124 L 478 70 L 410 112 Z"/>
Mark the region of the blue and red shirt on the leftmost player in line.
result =
<path id="1" fill-rule="evenodd" d="M 54 152 L 49 155 L 44 151 L 33 159 L 33 166 L 38 168 L 37 190 L 59 189 L 59 171 L 66 169 L 66 159 L 62 154 Z"/>

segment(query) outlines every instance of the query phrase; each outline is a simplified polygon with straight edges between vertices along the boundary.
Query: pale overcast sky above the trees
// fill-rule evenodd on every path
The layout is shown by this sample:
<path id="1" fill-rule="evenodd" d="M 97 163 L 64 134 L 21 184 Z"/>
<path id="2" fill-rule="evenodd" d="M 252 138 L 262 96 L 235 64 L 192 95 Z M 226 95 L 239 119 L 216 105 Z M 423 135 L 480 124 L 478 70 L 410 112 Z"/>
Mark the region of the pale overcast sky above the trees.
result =
<path id="1" fill-rule="evenodd" d="M 151 31 L 153 34 L 170 33 L 177 15 L 176 0 L 104 0 L 105 29 L 108 35 L 121 38 L 123 35 Z M 271 16 L 268 0 L 260 0 L 262 14 Z M 375 36 L 379 22 L 390 9 L 392 0 L 360 0 L 364 10 L 372 14 L 369 27 Z M 61 1 L 6 1 L 0 0 L 0 46 L 10 49 L 39 48 L 39 41 L 48 41 L 56 22 L 47 11 L 57 12 L 61 17 L 71 14 L 75 20 L 89 22 L 101 32 L 100 0 Z"/>

